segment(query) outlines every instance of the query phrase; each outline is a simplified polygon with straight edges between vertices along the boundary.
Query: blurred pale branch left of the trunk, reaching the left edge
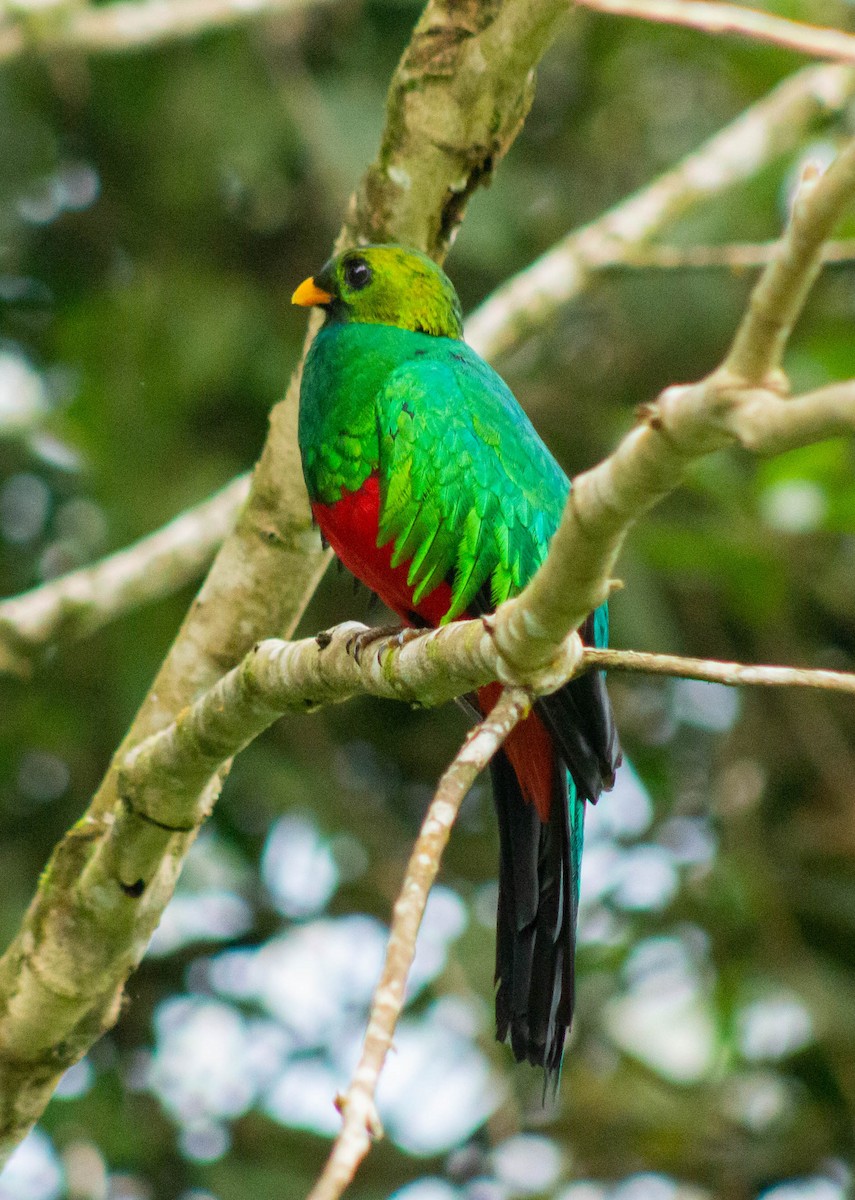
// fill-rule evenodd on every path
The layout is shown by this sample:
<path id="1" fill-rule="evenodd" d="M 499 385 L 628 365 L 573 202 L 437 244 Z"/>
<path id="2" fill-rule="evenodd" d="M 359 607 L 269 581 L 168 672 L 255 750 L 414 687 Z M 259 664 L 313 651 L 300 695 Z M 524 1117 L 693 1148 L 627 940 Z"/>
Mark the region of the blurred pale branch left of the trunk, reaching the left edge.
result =
<path id="1" fill-rule="evenodd" d="M 0 601 L 0 674 L 26 676 L 38 650 L 84 637 L 197 578 L 231 533 L 250 490 L 239 475 L 210 499 L 91 566 Z"/>

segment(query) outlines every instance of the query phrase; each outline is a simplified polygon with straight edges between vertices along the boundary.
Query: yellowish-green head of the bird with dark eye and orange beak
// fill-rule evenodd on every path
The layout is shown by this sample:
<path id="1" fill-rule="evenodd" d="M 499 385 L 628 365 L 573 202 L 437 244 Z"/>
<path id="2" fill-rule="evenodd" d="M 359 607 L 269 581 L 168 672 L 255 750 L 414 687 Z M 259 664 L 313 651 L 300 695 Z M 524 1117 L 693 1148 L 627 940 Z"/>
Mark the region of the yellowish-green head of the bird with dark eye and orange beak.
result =
<path id="1" fill-rule="evenodd" d="M 396 325 L 435 337 L 461 337 L 460 300 L 426 254 L 402 246 L 346 250 L 305 280 L 292 304 L 318 305 L 334 322 Z"/>

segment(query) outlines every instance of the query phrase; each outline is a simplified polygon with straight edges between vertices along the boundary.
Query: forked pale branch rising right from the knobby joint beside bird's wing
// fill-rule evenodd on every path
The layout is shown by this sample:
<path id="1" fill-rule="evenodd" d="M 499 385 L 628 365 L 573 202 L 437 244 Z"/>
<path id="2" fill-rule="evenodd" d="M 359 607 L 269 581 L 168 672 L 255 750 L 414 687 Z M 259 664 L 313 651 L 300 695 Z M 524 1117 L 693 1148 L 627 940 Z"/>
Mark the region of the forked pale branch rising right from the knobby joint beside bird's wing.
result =
<path id="1" fill-rule="evenodd" d="M 854 196 L 851 140 L 802 188 L 722 366 L 700 383 L 668 388 L 614 454 L 574 480 L 546 562 L 496 613 L 494 636 L 516 678 L 561 658 L 567 630 L 608 599 L 628 530 L 696 458 L 728 445 L 777 452 L 803 437 L 853 432 L 853 384 L 784 401 L 778 364 L 819 269 L 823 239 Z"/>

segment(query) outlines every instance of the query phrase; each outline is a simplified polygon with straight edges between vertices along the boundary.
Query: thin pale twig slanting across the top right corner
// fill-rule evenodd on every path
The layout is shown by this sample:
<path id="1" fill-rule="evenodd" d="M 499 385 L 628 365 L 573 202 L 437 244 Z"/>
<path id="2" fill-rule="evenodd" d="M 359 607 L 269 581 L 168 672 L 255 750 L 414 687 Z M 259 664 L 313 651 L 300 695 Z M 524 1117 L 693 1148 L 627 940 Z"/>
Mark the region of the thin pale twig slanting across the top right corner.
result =
<path id="1" fill-rule="evenodd" d="M 855 36 L 851 34 L 806 25 L 740 5 L 716 4 L 713 0 L 576 0 L 576 4 L 610 17 L 639 17 L 641 20 L 698 29 L 704 34 L 736 34 L 812 58 L 855 62 Z"/>

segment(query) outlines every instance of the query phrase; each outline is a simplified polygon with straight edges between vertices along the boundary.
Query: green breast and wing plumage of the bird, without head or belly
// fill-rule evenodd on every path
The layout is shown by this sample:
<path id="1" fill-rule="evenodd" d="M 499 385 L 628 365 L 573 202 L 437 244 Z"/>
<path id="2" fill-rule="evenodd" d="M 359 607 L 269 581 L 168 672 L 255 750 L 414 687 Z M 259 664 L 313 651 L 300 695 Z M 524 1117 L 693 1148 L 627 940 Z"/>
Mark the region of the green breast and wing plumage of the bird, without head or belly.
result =
<path id="1" fill-rule="evenodd" d="M 411 563 L 415 604 L 453 578 L 453 620 L 484 584 L 501 604 L 531 578 L 569 484 L 465 343 L 334 322 L 315 341 L 303 395 L 311 498 L 331 504 L 378 473 L 378 545 L 394 542 L 393 565 Z"/>

